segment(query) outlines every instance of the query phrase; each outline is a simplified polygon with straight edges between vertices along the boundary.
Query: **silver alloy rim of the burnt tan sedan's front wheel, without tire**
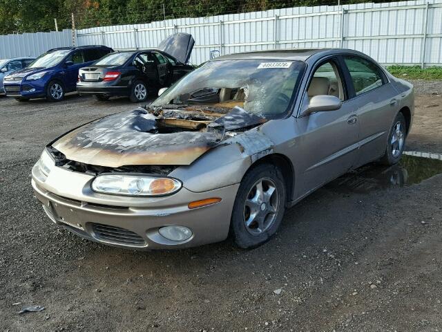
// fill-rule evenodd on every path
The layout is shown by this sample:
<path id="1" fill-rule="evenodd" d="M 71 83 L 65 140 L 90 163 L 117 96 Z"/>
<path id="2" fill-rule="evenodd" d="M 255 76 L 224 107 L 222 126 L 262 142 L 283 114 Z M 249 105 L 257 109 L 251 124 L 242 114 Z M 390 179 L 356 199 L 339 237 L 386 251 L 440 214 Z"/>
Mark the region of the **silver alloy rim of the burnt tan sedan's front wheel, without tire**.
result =
<path id="1" fill-rule="evenodd" d="M 249 191 L 244 203 L 244 225 L 254 235 L 266 232 L 278 215 L 279 194 L 270 178 L 261 178 Z"/>

